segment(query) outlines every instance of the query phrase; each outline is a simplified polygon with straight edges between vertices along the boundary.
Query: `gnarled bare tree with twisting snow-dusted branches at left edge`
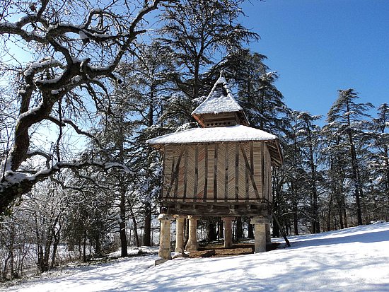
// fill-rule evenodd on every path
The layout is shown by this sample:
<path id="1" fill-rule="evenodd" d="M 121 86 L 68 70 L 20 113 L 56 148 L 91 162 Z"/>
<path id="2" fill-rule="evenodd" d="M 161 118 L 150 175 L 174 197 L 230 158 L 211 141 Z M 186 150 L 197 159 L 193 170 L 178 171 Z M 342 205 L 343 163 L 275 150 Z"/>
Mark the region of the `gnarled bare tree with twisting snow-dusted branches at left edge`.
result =
<path id="1" fill-rule="evenodd" d="M 0 214 L 6 214 L 36 182 L 62 168 L 117 166 L 91 157 L 64 161 L 62 143 L 67 127 L 96 139 L 81 126 L 91 126 L 95 113 L 110 111 L 110 82 L 119 82 L 115 69 L 137 36 L 146 32 L 144 18 L 170 1 L 133 2 L 40 0 L 28 4 L 20 0 L 0 4 L 1 70 L 13 74 L 14 94 L 18 95 L 12 146 L 1 156 Z M 16 57 L 13 51 L 17 47 L 30 62 L 16 62 L 20 55 Z M 79 124 L 79 117 L 86 117 L 86 124 Z M 47 135 L 39 128 L 54 127 L 57 139 L 49 151 L 33 143 L 34 134 Z M 46 163 L 30 166 L 42 159 Z"/>

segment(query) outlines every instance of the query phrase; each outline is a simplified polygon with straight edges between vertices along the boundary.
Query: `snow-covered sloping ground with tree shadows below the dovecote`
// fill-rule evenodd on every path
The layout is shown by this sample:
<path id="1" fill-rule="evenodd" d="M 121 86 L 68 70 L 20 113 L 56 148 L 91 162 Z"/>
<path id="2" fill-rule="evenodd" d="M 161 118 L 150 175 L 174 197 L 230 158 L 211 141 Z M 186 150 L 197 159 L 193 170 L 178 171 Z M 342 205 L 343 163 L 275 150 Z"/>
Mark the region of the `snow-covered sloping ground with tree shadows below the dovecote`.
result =
<path id="1" fill-rule="evenodd" d="M 0 291 L 389 291 L 389 223 L 289 238 L 292 247 L 236 257 L 156 255 L 76 267 Z"/>

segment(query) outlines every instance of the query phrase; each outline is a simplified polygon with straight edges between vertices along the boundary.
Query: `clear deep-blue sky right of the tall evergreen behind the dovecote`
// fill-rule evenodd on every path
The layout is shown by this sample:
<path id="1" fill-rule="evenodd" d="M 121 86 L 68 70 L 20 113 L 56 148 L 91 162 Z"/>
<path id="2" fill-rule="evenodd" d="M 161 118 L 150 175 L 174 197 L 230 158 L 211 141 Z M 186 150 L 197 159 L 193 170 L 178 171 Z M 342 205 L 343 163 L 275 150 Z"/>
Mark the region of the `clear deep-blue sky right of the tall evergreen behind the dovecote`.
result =
<path id="1" fill-rule="evenodd" d="M 243 5 L 243 24 L 261 40 L 250 47 L 278 72 L 286 105 L 326 115 L 347 88 L 360 103 L 389 103 L 389 0 L 251 3 Z"/>

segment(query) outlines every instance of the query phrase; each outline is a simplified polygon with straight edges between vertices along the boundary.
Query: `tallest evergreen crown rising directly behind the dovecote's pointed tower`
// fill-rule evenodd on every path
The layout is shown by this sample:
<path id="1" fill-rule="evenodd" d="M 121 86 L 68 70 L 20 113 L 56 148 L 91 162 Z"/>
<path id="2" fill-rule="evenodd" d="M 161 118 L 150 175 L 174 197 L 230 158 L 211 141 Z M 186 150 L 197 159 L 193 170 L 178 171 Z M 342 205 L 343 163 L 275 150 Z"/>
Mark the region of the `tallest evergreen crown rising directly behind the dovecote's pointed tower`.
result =
<path id="1" fill-rule="evenodd" d="M 180 93 L 172 96 L 170 111 L 180 113 L 179 122 L 191 122 L 192 100 L 207 95 L 219 76 L 221 57 L 243 49 L 244 42 L 258 36 L 238 23 L 243 14 L 240 1 L 180 1 L 163 13 L 166 24 L 161 40 L 173 49 L 178 62 L 175 83 Z"/>

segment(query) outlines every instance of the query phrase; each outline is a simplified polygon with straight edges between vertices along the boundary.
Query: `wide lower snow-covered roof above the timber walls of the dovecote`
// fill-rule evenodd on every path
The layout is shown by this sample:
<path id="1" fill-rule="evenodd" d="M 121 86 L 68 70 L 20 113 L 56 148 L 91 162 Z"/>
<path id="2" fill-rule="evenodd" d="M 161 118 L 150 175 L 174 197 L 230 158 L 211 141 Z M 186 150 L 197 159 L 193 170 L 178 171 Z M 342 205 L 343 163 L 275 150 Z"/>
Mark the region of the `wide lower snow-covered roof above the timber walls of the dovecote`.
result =
<path id="1" fill-rule="evenodd" d="M 277 136 L 260 129 L 241 124 L 231 127 L 194 128 L 149 139 L 146 142 L 158 144 L 190 144 L 228 141 L 271 141 Z"/>

